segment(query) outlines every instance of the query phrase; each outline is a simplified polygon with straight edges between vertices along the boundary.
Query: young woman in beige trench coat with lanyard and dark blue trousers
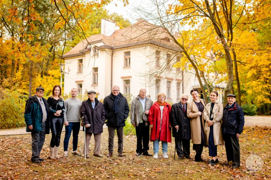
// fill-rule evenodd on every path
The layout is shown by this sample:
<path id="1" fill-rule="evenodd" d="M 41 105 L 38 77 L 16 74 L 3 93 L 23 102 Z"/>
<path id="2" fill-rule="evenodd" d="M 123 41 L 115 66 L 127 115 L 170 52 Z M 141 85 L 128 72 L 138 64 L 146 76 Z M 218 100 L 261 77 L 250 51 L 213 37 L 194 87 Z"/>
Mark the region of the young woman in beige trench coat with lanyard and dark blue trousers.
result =
<path id="1" fill-rule="evenodd" d="M 223 105 L 217 101 L 218 93 L 213 91 L 210 94 L 211 102 L 205 106 L 203 118 L 206 121 L 204 124 L 204 132 L 206 135 L 206 145 L 209 147 L 209 156 L 212 159 L 209 164 L 218 163 L 217 145 L 223 144 L 221 132 L 221 120 L 223 118 Z"/>

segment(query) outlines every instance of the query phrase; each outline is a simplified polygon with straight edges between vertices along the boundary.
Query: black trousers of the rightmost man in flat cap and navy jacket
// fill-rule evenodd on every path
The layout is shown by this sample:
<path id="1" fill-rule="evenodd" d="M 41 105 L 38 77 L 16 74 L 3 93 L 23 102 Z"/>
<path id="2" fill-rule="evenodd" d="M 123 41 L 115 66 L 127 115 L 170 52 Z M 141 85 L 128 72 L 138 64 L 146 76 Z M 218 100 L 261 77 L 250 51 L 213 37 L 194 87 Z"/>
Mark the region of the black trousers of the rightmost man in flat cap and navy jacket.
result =
<path id="1" fill-rule="evenodd" d="M 234 165 L 240 166 L 239 139 L 236 137 L 236 135 L 232 134 L 223 134 L 223 139 L 225 142 L 227 161 L 232 161 L 234 162 Z"/>

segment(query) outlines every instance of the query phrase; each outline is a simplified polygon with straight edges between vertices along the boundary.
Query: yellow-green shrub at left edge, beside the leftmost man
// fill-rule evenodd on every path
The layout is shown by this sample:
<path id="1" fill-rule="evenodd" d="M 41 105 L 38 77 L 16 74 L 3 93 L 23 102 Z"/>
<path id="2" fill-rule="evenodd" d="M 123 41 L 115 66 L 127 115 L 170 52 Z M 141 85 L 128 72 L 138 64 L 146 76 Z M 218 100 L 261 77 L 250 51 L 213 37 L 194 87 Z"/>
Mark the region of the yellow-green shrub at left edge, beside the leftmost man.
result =
<path id="1" fill-rule="evenodd" d="M 0 129 L 25 126 L 24 111 L 28 97 L 0 87 Z"/>

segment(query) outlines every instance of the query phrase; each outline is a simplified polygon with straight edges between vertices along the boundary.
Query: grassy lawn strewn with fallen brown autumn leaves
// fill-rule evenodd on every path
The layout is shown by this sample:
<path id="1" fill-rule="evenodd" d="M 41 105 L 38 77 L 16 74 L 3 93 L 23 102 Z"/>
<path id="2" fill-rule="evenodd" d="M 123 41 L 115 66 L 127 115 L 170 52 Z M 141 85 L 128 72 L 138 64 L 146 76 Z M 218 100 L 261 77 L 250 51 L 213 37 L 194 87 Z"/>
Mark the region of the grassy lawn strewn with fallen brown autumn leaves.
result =
<path id="1" fill-rule="evenodd" d="M 226 162 L 225 147 L 218 146 L 219 164 L 208 165 L 207 162 L 193 160 L 173 160 L 174 138 L 168 143 L 168 159 L 161 158 L 161 143 L 159 159 L 153 157 L 135 156 L 136 137 L 124 137 L 125 157 L 117 155 L 117 138 L 115 136 L 115 151 L 111 158 L 98 158 L 90 156 L 84 160 L 71 154 L 71 141 L 69 156 L 63 157 L 63 138 L 61 136 L 61 159 L 48 159 L 49 142 L 51 135 L 46 135 L 41 157 L 46 158 L 42 164 L 31 162 L 31 135 L 0 136 L 0 179 L 270 179 L 271 178 L 271 129 L 263 127 L 245 127 L 240 138 L 241 167 L 233 169 L 224 166 Z M 106 155 L 108 150 L 108 132 L 104 130 L 101 140 L 101 154 Z M 72 139 L 72 138 L 71 138 Z M 71 140 L 70 139 L 70 140 Z M 78 151 L 82 152 L 84 134 L 79 133 Z M 91 152 L 93 154 L 94 139 L 91 139 Z M 192 148 L 192 143 L 191 143 Z M 150 142 L 149 153 L 153 154 L 153 143 Z M 263 168 L 254 173 L 246 168 L 246 159 L 251 155 L 260 156 Z M 191 149 L 191 157 L 195 152 Z M 176 155 L 177 157 L 177 155 Z M 204 148 L 203 159 L 209 160 L 208 148 Z"/>

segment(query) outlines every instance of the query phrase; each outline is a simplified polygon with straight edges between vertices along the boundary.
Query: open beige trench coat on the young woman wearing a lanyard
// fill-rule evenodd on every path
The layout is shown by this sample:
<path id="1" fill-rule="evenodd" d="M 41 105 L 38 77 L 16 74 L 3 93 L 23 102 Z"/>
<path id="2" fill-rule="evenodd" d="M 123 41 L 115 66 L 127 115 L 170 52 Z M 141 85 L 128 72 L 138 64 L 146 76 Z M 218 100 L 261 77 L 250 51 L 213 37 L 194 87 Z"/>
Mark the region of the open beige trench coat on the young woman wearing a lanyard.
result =
<path id="1" fill-rule="evenodd" d="M 210 111 L 211 111 L 211 103 L 208 103 L 205 106 L 203 118 L 206 121 L 204 124 L 204 133 L 206 136 L 206 145 L 208 145 L 208 139 L 210 134 L 210 127 L 208 127 L 208 120 L 210 120 Z M 219 115 L 216 115 L 218 112 L 220 112 Z M 222 131 L 221 131 L 221 120 L 223 118 L 223 105 L 216 101 L 214 104 L 214 108 L 212 110 L 213 113 L 213 129 L 214 129 L 214 145 L 222 145 L 223 144 L 223 137 L 222 137 Z"/>

